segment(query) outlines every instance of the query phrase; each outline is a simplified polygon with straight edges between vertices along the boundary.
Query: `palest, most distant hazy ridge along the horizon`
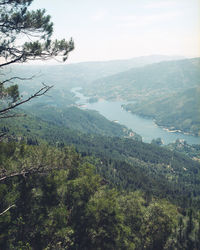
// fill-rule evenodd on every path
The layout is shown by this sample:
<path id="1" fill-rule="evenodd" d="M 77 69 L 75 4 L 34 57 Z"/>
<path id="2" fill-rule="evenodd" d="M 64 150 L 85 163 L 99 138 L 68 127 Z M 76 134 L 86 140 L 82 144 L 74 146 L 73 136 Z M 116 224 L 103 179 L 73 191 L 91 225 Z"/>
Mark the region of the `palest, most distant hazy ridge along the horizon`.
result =
<path id="1" fill-rule="evenodd" d="M 76 86 L 83 87 L 101 77 L 127 71 L 134 67 L 179 59 L 182 59 L 182 57 L 152 55 L 124 60 L 81 62 L 65 65 L 23 65 L 23 67 L 12 65 L 11 67 L 7 67 L 5 72 L 7 76 L 35 76 L 32 80 L 28 81 L 29 84 L 26 84 L 29 88 L 36 88 L 41 82 L 45 82 L 49 85 L 55 84 L 56 88 L 62 87 L 65 90 L 69 90 Z"/>

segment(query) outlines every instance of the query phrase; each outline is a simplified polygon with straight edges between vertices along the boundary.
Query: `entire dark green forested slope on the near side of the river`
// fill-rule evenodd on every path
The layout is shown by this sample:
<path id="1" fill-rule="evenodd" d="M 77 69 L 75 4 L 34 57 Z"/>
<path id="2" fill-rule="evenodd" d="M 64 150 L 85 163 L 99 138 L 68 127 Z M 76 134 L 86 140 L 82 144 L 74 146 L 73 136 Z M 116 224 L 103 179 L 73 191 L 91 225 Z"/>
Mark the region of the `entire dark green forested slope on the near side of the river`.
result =
<path id="1" fill-rule="evenodd" d="M 200 164 L 192 155 L 28 115 L 15 121 L 1 129 L 1 211 L 13 204 L 1 217 L 3 248 L 198 249 Z"/>

